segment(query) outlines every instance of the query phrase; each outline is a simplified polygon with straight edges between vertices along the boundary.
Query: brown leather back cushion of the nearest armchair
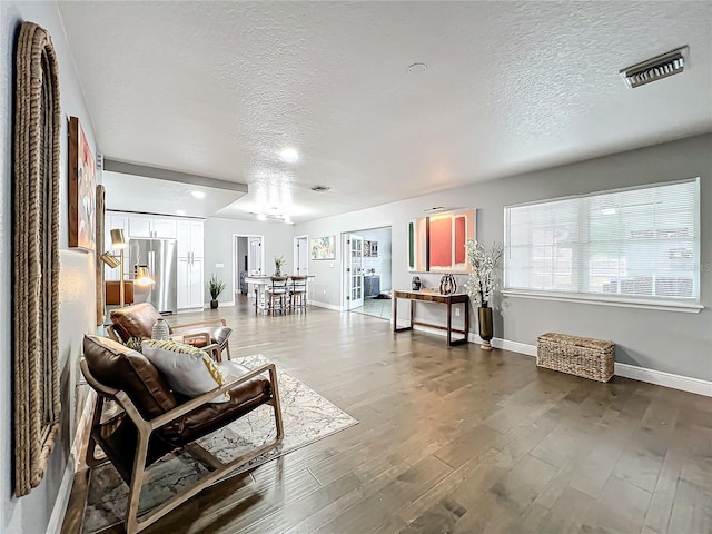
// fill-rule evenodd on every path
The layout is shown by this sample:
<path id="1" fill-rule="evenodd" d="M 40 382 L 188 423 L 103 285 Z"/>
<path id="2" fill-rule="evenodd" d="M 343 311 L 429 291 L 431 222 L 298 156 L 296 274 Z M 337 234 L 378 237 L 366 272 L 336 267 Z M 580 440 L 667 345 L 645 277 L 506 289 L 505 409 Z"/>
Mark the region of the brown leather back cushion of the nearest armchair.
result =
<path id="1" fill-rule="evenodd" d="M 126 392 L 144 418 L 177 406 L 166 379 L 146 357 L 106 337 L 85 336 L 85 358 L 101 384 Z"/>

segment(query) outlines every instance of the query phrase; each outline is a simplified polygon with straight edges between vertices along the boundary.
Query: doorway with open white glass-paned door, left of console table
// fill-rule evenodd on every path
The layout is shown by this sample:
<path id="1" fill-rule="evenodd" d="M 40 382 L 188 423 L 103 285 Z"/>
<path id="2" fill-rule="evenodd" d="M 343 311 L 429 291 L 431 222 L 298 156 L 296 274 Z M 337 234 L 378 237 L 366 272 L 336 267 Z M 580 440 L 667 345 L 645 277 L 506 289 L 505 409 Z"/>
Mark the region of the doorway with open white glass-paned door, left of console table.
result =
<path id="1" fill-rule="evenodd" d="M 390 320 L 390 227 L 343 234 L 343 309 Z"/>

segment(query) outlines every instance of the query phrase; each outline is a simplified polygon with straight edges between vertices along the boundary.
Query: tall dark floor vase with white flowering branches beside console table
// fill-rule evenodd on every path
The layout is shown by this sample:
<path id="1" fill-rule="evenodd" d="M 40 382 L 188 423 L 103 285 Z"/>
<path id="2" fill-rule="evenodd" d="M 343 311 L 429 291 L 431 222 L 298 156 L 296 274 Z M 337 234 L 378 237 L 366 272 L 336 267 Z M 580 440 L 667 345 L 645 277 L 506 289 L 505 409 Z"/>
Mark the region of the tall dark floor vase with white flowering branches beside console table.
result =
<path id="1" fill-rule="evenodd" d="M 481 348 L 490 350 L 492 348 L 490 340 L 494 336 L 490 300 L 497 287 L 495 269 L 500 258 L 502 258 L 503 246 L 500 243 L 495 243 L 492 248 L 487 249 L 476 240 L 467 239 L 465 241 L 465 250 L 471 270 L 469 278 L 464 287 L 469 298 L 474 298 L 475 303 L 477 303 L 479 337 L 482 338 Z"/>

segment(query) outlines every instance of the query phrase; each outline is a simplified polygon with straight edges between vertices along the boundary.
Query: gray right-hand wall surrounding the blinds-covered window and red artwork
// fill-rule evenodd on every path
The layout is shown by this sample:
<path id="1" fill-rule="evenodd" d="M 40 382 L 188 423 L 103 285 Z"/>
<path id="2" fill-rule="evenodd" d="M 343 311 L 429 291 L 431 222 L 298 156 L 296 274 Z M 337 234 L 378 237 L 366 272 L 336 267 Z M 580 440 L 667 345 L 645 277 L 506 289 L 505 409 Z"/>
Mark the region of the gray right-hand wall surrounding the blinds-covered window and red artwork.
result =
<path id="1" fill-rule="evenodd" d="M 712 136 L 698 136 L 639 150 L 596 158 L 580 164 L 492 180 L 438 194 L 393 202 L 336 217 L 297 225 L 295 234 L 310 236 L 339 234 L 353 228 L 392 226 L 393 286 L 411 287 L 406 264 L 406 222 L 423 216 L 433 206 L 477 209 L 477 238 L 486 244 L 504 239 L 504 206 L 578 195 L 605 189 L 701 178 L 701 304 L 699 314 L 662 312 L 524 299 L 497 298 L 496 337 L 535 345 L 537 335 L 564 332 L 613 339 L 616 362 L 712 379 Z M 340 243 L 339 243 L 340 245 Z M 324 294 L 317 300 L 338 306 L 340 295 L 340 250 L 335 268 L 313 261 Z M 428 287 L 437 287 L 439 276 L 421 275 Z M 459 277 L 464 281 L 464 277 Z M 426 320 L 442 323 L 443 314 L 418 307 Z M 405 313 L 405 309 L 404 309 Z M 404 317 L 405 315 L 402 315 Z M 476 324 L 471 325 L 476 332 Z"/>

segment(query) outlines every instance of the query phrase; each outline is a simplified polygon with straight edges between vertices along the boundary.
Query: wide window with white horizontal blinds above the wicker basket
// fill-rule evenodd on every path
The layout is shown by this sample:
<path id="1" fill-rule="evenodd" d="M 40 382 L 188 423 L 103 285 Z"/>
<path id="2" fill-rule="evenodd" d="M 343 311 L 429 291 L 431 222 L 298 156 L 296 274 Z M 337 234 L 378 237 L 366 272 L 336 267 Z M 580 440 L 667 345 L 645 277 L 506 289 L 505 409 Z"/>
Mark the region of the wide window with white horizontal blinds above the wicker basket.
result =
<path id="1" fill-rule="evenodd" d="M 695 303 L 699 214 L 699 178 L 506 207 L 504 288 Z"/>

